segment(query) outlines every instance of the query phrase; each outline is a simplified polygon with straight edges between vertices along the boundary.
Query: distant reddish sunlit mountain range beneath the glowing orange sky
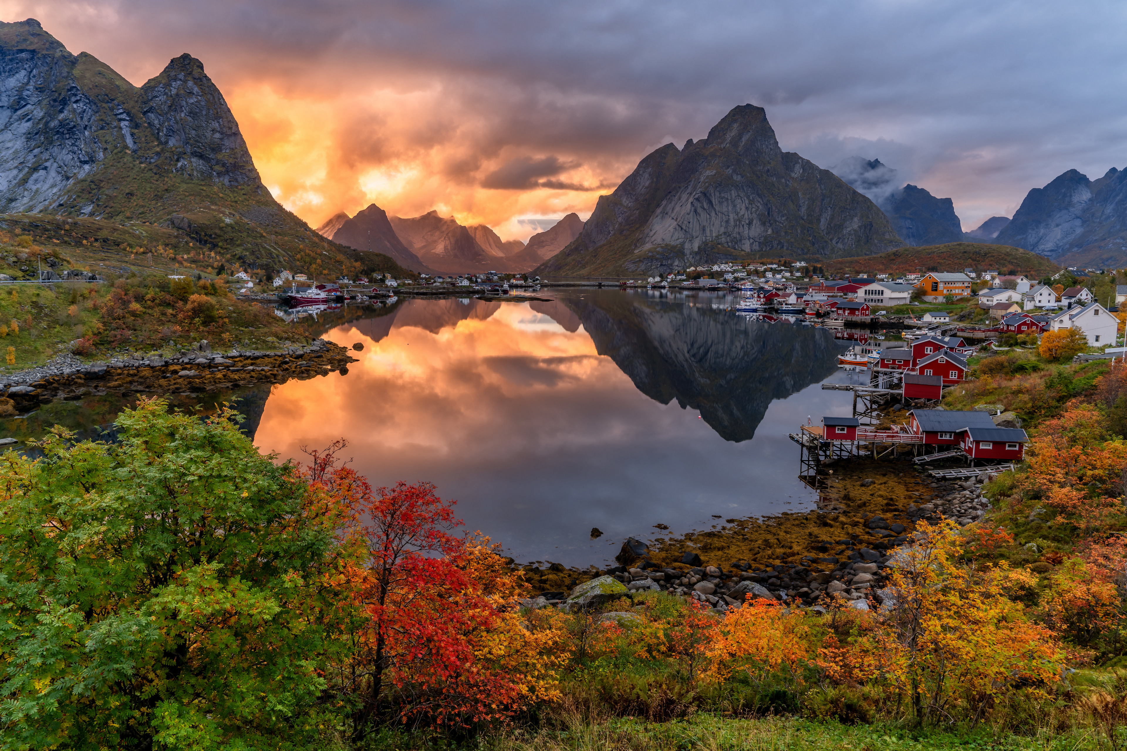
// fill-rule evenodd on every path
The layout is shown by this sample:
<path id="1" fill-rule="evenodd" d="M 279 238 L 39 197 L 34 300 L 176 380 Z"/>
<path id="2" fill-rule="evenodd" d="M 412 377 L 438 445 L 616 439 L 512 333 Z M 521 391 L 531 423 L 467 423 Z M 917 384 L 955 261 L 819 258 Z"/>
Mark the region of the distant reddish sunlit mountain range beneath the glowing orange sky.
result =
<path id="1" fill-rule="evenodd" d="M 356 250 L 387 253 L 405 268 L 424 274 L 523 274 L 558 253 L 582 229 L 579 216 L 568 214 L 549 230 L 532 235 L 525 245 L 520 240 L 503 241 L 483 224 L 463 226 L 438 212 L 389 217 L 371 204 L 354 217 L 340 212 L 317 231 Z"/>

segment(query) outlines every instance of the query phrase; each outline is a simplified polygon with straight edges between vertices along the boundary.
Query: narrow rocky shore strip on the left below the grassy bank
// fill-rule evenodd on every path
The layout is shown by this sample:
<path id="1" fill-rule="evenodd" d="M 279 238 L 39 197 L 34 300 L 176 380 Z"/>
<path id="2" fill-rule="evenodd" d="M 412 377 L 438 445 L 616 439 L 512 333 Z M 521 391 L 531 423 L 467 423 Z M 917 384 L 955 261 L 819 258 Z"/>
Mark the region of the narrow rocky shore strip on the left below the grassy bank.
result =
<path id="1" fill-rule="evenodd" d="M 176 355 L 150 352 L 86 364 L 62 355 L 44 366 L 0 379 L 0 417 L 53 401 L 107 393 L 186 393 L 347 373 L 348 350 L 323 339 L 282 351 L 213 352 L 206 341 Z"/>

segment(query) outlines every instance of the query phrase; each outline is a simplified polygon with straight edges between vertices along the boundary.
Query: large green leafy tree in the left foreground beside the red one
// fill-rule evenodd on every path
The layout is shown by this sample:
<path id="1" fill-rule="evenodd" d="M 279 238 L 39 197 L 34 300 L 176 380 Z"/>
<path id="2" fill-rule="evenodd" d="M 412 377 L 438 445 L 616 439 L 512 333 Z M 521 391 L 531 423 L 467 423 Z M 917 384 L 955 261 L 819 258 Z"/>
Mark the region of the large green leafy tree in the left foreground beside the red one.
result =
<path id="1" fill-rule="evenodd" d="M 334 519 L 229 411 L 117 427 L 0 457 L 0 748 L 304 748 Z"/>

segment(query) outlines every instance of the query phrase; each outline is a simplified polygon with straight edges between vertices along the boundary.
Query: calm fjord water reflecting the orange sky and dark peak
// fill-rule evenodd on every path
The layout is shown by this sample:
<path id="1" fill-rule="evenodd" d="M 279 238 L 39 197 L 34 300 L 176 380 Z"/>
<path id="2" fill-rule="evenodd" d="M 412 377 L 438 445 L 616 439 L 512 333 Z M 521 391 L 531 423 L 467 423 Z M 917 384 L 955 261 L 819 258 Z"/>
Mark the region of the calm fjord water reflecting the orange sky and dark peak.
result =
<path id="1" fill-rule="evenodd" d="M 644 290 L 403 301 L 328 331 L 362 343 L 360 361 L 275 386 L 255 442 L 301 457 L 345 437 L 373 485 L 433 482 L 521 562 L 600 564 L 629 535 L 662 535 L 657 524 L 675 534 L 809 508 L 787 435 L 849 413 L 817 385 L 851 377 L 836 369 L 843 348 L 731 303 Z"/>

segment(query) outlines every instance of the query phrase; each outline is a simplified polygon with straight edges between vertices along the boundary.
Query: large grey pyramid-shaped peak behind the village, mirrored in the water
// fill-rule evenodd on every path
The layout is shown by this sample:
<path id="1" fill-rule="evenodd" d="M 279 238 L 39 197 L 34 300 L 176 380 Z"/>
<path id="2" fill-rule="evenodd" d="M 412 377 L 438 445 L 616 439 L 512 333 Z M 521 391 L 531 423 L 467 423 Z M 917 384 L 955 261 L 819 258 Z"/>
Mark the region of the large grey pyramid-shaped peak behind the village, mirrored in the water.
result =
<path id="1" fill-rule="evenodd" d="M 824 259 L 900 245 L 871 200 L 779 147 L 761 107 L 728 113 L 708 138 L 648 154 L 540 275 L 672 271 L 786 253 Z"/>

